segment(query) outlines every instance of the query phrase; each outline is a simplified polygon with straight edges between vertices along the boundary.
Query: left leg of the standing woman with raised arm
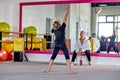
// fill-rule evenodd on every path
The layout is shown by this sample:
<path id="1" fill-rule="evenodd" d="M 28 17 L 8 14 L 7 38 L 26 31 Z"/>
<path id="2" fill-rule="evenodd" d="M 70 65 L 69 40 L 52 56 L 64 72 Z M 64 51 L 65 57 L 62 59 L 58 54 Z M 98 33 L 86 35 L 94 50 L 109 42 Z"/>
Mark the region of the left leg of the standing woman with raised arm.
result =
<path id="1" fill-rule="evenodd" d="M 50 72 L 51 68 L 52 68 L 52 64 L 54 62 L 54 59 L 56 58 L 57 54 L 58 54 L 58 51 L 59 51 L 59 48 L 55 47 L 54 50 L 53 50 L 53 54 L 51 56 L 51 59 L 49 61 L 49 64 L 48 64 L 48 68 L 45 72 Z"/>

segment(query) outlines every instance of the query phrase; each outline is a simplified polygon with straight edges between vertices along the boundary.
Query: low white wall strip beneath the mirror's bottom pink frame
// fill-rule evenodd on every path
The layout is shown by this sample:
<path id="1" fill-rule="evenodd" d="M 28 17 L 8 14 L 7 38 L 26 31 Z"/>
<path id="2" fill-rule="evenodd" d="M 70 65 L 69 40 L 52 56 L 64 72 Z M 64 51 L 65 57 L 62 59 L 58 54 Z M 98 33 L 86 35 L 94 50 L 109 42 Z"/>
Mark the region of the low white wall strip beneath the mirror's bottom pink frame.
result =
<path id="1" fill-rule="evenodd" d="M 29 61 L 32 62 L 49 62 L 49 59 L 51 57 L 51 54 L 35 54 L 35 53 L 26 53 L 27 58 Z M 70 58 L 72 58 L 72 55 L 70 55 Z M 78 66 L 80 65 L 79 60 L 81 58 L 78 57 L 75 60 L 75 64 Z M 114 66 L 120 66 L 120 58 L 117 57 L 102 57 L 102 56 L 91 56 L 92 59 L 92 65 L 114 65 Z M 82 56 L 83 65 L 88 64 L 88 60 L 86 56 Z M 66 60 L 64 58 L 64 55 L 59 55 L 54 61 L 55 63 L 66 63 Z"/>

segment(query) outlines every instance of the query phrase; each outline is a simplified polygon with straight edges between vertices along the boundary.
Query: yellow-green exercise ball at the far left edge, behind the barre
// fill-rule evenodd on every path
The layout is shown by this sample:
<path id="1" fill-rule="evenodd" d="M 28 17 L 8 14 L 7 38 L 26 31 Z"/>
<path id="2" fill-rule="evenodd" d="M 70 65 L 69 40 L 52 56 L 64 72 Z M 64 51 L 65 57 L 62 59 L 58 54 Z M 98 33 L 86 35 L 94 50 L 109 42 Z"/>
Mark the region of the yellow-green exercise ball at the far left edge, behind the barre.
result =
<path id="1" fill-rule="evenodd" d="M 6 22 L 0 22 L 0 30 L 10 32 L 10 25 Z M 9 33 L 2 33 L 3 37 L 8 36 Z"/>

